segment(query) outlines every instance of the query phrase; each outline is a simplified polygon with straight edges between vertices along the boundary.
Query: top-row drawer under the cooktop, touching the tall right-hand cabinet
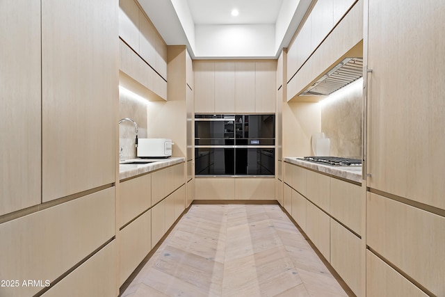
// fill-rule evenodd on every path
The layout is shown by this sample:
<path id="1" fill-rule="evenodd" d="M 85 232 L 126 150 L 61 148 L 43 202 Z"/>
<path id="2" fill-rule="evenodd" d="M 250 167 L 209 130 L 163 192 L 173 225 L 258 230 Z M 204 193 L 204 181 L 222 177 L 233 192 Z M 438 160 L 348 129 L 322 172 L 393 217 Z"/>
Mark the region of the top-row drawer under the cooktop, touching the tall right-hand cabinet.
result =
<path id="1" fill-rule="evenodd" d="M 331 178 L 330 214 L 357 234 L 362 233 L 362 187 Z"/>

